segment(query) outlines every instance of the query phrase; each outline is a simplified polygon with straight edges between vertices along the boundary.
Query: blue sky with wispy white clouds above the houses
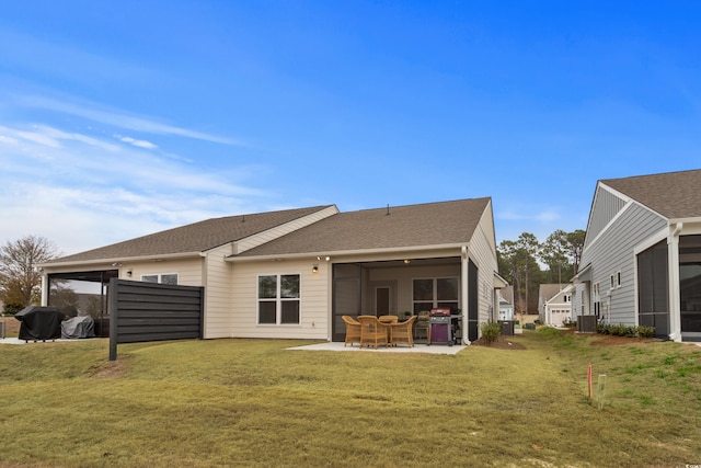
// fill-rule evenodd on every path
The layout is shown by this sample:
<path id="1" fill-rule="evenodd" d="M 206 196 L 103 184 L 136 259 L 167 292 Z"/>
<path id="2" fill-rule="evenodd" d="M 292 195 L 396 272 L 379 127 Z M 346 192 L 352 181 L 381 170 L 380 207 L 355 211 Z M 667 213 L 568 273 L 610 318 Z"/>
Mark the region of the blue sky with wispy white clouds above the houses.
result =
<path id="1" fill-rule="evenodd" d="M 0 14 L 0 241 L 491 196 L 585 229 L 701 164 L 701 3 L 33 1 Z"/>

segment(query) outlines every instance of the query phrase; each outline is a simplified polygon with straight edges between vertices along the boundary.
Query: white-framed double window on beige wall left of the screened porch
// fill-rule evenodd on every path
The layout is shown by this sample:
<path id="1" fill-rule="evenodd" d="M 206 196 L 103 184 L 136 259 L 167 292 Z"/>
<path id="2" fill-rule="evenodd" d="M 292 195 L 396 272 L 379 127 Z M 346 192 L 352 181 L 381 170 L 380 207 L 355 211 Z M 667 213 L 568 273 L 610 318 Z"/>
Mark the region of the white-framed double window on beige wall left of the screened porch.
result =
<path id="1" fill-rule="evenodd" d="M 299 324 L 299 275 L 258 276 L 258 323 Z"/>

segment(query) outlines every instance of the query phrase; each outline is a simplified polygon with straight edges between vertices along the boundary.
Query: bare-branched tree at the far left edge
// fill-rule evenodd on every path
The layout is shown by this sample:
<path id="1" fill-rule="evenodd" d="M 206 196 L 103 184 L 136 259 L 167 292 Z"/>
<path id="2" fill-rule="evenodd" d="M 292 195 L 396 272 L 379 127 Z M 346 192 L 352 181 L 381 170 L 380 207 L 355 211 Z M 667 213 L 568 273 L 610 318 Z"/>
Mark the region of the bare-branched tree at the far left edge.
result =
<path id="1" fill-rule="evenodd" d="M 5 310 L 16 311 L 38 304 L 42 273 L 36 265 L 56 255 L 54 243 L 37 236 L 26 236 L 0 247 L 0 300 L 5 304 Z"/>

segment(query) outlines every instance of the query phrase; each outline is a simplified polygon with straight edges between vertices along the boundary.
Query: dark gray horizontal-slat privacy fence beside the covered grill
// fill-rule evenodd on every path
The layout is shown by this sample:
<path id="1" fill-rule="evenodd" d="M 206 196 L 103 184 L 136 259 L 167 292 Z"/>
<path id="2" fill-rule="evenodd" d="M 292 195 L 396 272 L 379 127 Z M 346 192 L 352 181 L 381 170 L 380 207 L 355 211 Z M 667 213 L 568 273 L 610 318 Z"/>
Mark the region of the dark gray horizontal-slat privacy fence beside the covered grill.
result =
<path id="1" fill-rule="evenodd" d="M 110 361 L 118 343 L 202 339 L 204 287 L 110 279 Z"/>

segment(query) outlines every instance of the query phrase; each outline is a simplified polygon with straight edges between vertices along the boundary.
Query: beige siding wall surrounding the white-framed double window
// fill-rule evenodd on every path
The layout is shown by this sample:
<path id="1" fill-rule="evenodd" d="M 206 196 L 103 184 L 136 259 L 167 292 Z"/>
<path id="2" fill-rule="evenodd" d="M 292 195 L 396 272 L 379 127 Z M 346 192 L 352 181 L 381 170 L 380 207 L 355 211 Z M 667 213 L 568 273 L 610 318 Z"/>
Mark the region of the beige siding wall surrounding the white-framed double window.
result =
<path id="1" fill-rule="evenodd" d="M 319 273 L 312 274 L 312 266 Z M 300 275 L 300 324 L 257 324 L 257 277 L 265 274 Z M 330 335 L 329 283 L 331 269 L 326 262 L 287 260 L 283 262 L 234 263 L 232 270 L 232 338 L 275 338 L 327 340 Z M 234 327 L 235 324 L 235 327 Z"/>

